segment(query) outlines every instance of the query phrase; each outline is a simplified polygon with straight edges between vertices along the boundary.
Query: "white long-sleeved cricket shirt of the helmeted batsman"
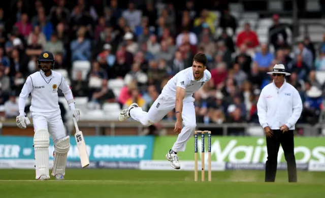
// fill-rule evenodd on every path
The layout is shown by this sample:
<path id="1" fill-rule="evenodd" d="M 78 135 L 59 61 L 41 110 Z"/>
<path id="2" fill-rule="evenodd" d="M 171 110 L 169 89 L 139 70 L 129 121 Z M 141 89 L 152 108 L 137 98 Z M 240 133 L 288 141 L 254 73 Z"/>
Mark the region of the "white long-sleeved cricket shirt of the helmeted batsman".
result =
<path id="1" fill-rule="evenodd" d="M 36 113 L 51 113 L 60 109 L 57 90 L 61 89 L 67 101 L 73 100 L 70 86 L 61 74 L 52 71 L 48 77 L 43 72 L 35 72 L 28 76 L 19 95 L 19 114 L 24 115 L 25 102 L 31 93 L 29 110 Z"/>

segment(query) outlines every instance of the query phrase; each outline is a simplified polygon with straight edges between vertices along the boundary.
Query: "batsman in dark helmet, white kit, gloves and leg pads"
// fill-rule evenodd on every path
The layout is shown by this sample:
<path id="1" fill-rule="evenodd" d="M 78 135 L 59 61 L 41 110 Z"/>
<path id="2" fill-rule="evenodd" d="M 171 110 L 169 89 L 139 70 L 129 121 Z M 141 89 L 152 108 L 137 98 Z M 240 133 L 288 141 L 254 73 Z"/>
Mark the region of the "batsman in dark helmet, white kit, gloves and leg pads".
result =
<path id="1" fill-rule="evenodd" d="M 31 94 L 30 113 L 34 125 L 34 150 L 36 161 L 36 179 L 48 180 L 49 175 L 49 145 L 50 135 L 54 144 L 54 162 L 52 176 L 56 180 L 64 180 L 67 156 L 70 149 L 70 137 L 61 118 L 58 105 L 57 90 L 61 89 L 67 99 L 73 117 L 79 121 L 80 112 L 75 109 L 75 100 L 70 86 L 63 76 L 54 69 L 54 56 L 51 52 L 44 51 L 38 58 L 39 71 L 31 74 L 19 95 L 19 116 L 16 124 L 19 128 L 26 128 L 30 124 L 24 112 L 26 99 Z"/>

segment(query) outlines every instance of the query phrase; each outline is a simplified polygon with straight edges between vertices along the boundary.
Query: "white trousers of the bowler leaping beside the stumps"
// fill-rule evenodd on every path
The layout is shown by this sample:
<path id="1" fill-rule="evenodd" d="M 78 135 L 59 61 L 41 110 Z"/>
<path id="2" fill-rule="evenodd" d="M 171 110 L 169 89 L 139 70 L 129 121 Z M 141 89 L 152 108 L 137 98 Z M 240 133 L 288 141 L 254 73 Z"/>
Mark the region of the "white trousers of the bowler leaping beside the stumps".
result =
<path id="1" fill-rule="evenodd" d="M 183 128 L 174 143 L 172 150 L 175 152 L 185 151 L 186 143 L 191 138 L 197 126 L 194 109 L 194 98 L 186 97 L 183 100 Z M 175 98 L 161 93 L 157 100 L 152 104 L 148 112 L 141 107 L 133 108 L 130 115 L 133 119 L 141 122 L 142 125 L 149 126 L 159 122 L 164 116 L 175 108 Z"/>

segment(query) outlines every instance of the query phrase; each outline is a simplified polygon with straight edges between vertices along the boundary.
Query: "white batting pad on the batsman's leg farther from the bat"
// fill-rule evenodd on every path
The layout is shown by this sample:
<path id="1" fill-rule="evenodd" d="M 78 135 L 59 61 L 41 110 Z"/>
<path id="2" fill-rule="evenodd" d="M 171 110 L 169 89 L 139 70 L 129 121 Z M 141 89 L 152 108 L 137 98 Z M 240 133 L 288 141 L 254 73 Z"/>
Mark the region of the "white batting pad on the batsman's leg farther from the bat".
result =
<path id="1" fill-rule="evenodd" d="M 41 175 L 49 175 L 49 145 L 50 135 L 47 129 L 38 129 L 34 134 L 34 150 L 36 161 L 36 179 Z"/>

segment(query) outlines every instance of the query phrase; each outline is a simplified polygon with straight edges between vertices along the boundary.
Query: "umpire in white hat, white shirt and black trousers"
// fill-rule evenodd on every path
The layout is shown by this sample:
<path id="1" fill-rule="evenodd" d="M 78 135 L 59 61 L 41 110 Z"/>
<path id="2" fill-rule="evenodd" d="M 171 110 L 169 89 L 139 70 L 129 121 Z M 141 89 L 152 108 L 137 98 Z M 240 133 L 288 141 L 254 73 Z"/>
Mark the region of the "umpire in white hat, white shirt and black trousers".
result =
<path id="1" fill-rule="evenodd" d="M 272 72 L 273 82 L 265 86 L 257 102 L 259 123 L 264 128 L 268 148 L 265 167 L 265 182 L 274 182 L 277 158 L 282 146 L 287 162 L 289 182 L 297 182 L 297 167 L 294 152 L 294 129 L 303 106 L 295 87 L 286 82 L 283 64 L 276 64 Z"/>

